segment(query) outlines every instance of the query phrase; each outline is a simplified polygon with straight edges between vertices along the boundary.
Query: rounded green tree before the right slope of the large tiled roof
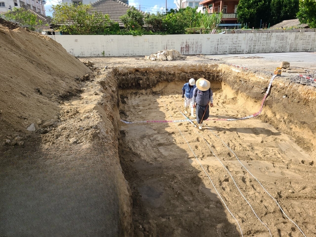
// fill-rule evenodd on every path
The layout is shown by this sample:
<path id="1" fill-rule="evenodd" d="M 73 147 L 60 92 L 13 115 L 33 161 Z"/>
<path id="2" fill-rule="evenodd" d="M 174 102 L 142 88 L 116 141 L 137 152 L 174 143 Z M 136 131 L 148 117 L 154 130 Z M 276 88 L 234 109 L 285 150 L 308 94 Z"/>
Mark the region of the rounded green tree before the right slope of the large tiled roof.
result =
<path id="1" fill-rule="evenodd" d="M 120 16 L 120 20 L 128 30 L 139 30 L 144 25 L 144 15 L 135 7 L 128 9 L 125 15 Z"/>

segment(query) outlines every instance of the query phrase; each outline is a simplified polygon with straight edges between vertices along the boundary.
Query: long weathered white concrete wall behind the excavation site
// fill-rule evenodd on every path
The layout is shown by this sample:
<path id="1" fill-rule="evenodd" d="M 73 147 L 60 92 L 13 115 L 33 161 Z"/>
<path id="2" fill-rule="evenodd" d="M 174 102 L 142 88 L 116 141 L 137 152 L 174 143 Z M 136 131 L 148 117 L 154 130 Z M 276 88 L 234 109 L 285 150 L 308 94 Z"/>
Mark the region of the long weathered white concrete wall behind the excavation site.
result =
<path id="1" fill-rule="evenodd" d="M 182 54 L 302 52 L 316 50 L 316 32 L 180 35 L 50 35 L 74 56 L 143 56 L 163 49 Z"/>

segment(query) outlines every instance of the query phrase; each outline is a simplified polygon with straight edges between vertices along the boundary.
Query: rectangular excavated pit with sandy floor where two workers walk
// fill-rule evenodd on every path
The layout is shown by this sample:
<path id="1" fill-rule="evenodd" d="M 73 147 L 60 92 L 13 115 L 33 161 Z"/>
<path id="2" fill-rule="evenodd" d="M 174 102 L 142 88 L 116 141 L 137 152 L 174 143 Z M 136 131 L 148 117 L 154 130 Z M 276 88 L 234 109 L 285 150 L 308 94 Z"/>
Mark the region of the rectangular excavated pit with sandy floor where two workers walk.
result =
<path id="1" fill-rule="evenodd" d="M 113 73 L 120 88 L 120 119 L 142 122 L 119 123 L 119 157 L 131 188 L 135 236 L 241 236 L 236 220 L 244 236 L 269 234 L 211 149 L 228 168 L 272 236 L 301 236 L 301 232 L 285 218 L 234 153 L 305 234 L 316 233 L 315 217 L 301 213 L 307 208 L 316 210 L 313 187 L 307 185 L 314 181 L 306 176 L 315 172 L 310 165 L 315 158 L 310 152 L 314 146 L 313 129 L 297 119 L 297 113 L 287 117 L 300 106 L 287 107 L 297 100 L 297 95 L 282 101 L 282 96 L 294 89 L 292 86 L 289 88 L 279 80 L 273 82 L 264 111 L 257 118 L 216 121 L 212 119 L 240 118 L 257 112 L 269 77 L 262 79 L 226 65 L 208 64 L 116 68 Z M 184 109 L 181 88 L 190 78 L 200 77 L 210 80 L 214 92 L 214 107 L 210 109 L 206 128 L 198 131 L 187 121 L 163 122 L 185 119 L 181 114 Z M 303 103 L 311 106 L 306 100 Z M 288 129 L 294 121 L 296 126 L 301 123 L 301 132 Z M 303 164 L 302 159 L 308 162 Z"/>

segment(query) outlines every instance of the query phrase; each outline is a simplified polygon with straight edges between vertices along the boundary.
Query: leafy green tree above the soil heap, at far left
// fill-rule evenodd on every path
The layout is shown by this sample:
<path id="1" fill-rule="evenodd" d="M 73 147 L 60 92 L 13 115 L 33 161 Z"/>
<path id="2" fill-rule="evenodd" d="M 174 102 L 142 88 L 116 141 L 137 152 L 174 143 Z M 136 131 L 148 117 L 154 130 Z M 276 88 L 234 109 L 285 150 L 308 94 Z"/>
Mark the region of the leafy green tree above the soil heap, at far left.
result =
<path id="1" fill-rule="evenodd" d="M 3 18 L 7 21 L 13 21 L 20 26 L 28 27 L 30 30 L 40 30 L 40 26 L 43 25 L 42 20 L 37 20 L 36 15 L 24 8 L 14 8 L 4 13 Z"/>

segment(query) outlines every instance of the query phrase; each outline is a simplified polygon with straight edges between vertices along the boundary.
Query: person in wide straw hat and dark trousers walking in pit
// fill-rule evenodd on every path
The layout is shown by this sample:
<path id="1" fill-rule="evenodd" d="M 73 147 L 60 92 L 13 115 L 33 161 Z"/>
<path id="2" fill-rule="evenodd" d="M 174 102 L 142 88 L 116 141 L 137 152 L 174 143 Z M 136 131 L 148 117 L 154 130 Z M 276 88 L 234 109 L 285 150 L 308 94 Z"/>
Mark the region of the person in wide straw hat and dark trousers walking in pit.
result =
<path id="1" fill-rule="evenodd" d="M 197 80 L 196 88 L 193 90 L 193 107 L 196 107 L 199 130 L 202 130 L 202 127 L 204 125 L 203 121 L 208 119 L 210 116 L 209 107 L 213 107 L 213 91 L 210 87 L 211 83 L 208 80 L 200 78 Z"/>

